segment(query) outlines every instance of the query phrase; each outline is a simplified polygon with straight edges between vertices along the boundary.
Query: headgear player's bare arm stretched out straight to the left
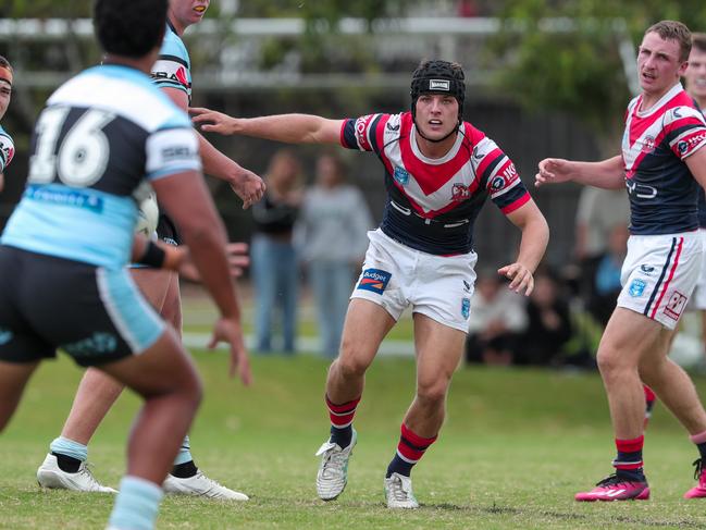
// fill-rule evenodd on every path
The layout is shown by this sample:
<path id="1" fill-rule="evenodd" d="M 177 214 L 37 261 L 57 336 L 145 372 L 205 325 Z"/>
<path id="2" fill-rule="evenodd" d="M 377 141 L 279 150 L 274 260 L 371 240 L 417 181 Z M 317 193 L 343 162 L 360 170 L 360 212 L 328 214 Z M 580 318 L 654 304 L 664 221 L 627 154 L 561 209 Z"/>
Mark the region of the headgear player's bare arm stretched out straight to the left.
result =
<path id="1" fill-rule="evenodd" d="M 206 133 L 243 135 L 285 144 L 339 144 L 343 120 L 312 114 L 233 118 L 210 109 L 189 109 L 191 121 Z"/>

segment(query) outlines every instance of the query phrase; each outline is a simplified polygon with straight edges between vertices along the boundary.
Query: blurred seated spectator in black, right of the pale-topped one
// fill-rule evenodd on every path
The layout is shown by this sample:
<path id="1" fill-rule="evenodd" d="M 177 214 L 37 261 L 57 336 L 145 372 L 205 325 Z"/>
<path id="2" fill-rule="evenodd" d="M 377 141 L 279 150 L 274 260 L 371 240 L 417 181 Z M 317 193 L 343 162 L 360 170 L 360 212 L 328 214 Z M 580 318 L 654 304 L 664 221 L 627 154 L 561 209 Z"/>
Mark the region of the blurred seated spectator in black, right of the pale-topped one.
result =
<path id="1" fill-rule="evenodd" d="M 518 350 L 519 365 L 561 363 L 563 346 L 571 338 L 569 305 L 548 270 L 534 275 L 534 291 L 527 305 L 528 328 Z"/>

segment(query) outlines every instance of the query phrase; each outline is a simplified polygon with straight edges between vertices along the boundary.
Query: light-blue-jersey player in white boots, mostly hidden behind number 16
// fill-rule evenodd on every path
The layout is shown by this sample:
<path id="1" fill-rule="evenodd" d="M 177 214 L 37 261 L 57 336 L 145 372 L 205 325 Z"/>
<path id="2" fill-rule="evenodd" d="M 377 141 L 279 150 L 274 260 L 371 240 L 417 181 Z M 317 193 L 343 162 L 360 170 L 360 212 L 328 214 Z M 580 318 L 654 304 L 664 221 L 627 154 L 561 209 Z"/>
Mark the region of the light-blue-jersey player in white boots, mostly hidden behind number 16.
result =
<path id="1" fill-rule="evenodd" d="M 201 21 L 208 7 L 208 0 L 170 1 L 164 41 L 151 70 L 157 86 L 185 111 L 191 98 L 191 63 L 182 35 L 188 26 Z M 201 135 L 198 135 L 198 140 L 206 173 L 231 183 L 243 198 L 245 208 L 261 198 L 264 184 L 259 176 L 222 155 Z M 163 213 L 159 218 L 157 234 L 160 239 L 171 245 L 181 242 L 174 223 Z M 150 304 L 181 333 L 178 275 L 164 270 L 133 269 L 133 276 Z M 90 439 L 122 390 L 121 384 L 99 370 L 89 369 L 86 372 L 61 435 L 51 442 L 50 452 L 37 470 L 37 481 L 40 485 L 84 492 L 115 491 L 94 478 L 86 460 Z M 248 500 L 244 493 L 219 484 L 197 468 L 188 436 L 184 439 L 163 485 L 168 493 L 230 501 Z"/>

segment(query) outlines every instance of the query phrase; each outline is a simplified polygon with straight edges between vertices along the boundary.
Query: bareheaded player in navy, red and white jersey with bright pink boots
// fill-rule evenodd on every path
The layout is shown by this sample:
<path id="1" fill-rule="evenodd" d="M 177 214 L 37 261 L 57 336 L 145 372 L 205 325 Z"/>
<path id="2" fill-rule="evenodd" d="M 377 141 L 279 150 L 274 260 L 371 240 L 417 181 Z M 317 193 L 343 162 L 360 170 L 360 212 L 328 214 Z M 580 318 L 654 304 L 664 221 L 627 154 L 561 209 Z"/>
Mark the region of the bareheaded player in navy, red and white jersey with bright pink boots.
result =
<path id="1" fill-rule="evenodd" d="M 631 236 L 622 267 L 622 292 L 598 347 L 616 436 L 616 472 L 577 501 L 646 500 L 643 471 L 644 381 L 696 444 L 699 485 L 688 498 L 706 496 L 706 412 L 689 375 L 667 357 L 698 279 L 702 242 L 697 195 L 706 185 L 706 122 L 679 83 L 688 66 L 691 33 L 680 22 L 651 26 L 637 56 L 642 94 L 628 106 L 622 155 L 600 162 L 545 159 L 536 185 L 567 181 L 628 188 Z"/>

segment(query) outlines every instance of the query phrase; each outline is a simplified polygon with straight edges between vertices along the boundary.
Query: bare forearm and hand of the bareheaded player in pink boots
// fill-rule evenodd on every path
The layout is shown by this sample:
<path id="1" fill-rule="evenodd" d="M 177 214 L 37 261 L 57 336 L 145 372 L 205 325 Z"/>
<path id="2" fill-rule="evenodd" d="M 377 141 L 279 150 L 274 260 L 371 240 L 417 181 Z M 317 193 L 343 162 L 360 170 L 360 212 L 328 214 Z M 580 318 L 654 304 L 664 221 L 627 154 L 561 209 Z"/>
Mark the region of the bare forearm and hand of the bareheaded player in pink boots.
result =
<path id="1" fill-rule="evenodd" d="M 600 162 L 575 162 L 562 158 L 545 158 L 540 162 L 534 185 L 540 187 L 545 184 L 571 181 L 586 186 L 619 189 L 624 186 L 624 178 L 622 157 L 619 155 Z"/>

